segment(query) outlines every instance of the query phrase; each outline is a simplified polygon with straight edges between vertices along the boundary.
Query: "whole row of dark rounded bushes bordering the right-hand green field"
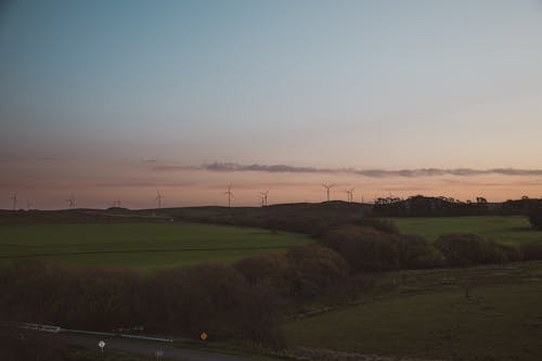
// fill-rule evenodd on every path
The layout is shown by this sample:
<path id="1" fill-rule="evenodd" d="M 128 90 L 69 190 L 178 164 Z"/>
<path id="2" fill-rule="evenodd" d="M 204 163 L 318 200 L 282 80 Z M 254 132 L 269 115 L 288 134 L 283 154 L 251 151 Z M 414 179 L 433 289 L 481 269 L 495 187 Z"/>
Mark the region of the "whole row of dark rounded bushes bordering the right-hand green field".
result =
<path id="1" fill-rule="evenodd" d="M 463 233 L 442 235 L 431 244 L 417 235 L 349 225 L 331 231 L 322 242 L 358 272 L 542 259 L 541 243 L 516 248 Z"/>

